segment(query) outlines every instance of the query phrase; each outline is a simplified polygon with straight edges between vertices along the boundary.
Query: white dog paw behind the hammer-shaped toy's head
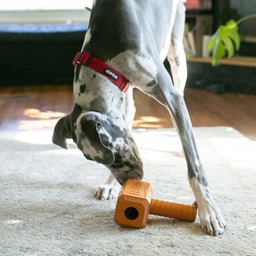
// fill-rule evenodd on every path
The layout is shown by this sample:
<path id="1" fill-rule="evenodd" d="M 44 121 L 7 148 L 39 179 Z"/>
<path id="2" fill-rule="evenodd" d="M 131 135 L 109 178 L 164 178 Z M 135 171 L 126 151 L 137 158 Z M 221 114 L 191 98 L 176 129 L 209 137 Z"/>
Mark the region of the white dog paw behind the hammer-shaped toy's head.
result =
<path id="1" fill-rule="evenodd" d="M 121 185 L 116 180 L 108 178 L 105 184 L 100 185 L 94 193 L 94 197 L 98 200 L 105 201 L 118 198 Z"/>

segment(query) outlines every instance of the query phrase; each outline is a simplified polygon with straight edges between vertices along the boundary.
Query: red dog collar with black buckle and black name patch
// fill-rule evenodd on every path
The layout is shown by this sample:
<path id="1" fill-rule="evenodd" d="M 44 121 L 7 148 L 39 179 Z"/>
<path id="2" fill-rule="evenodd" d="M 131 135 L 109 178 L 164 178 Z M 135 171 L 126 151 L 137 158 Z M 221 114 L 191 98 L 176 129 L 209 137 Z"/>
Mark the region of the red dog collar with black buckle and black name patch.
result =
<path id="1" fill-rule="evenodd" d="M 78 52 L 73 60 L 73 65 L 76 66 L 77 64 L 89 66 L 93 70 L 102 74 L 106 78 L 110 79 L 111 82 L 116 84 L 122 92 L 126 92 L 130 86 L 130 82 L 122 76 L 122 74 L 106 65 L 105 62 L 95 58 L 92 54 L 89 54 L 89 52 Z"/>

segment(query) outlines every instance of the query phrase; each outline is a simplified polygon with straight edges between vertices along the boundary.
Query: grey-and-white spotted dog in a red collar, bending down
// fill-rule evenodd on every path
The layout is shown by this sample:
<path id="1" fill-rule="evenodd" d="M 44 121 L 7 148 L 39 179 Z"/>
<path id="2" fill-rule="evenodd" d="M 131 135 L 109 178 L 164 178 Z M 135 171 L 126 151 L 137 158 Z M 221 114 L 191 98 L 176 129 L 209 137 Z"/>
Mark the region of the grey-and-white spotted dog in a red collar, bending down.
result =
<path id="1" fill-rule="evenodd" d="M 94 0 L 82 50 L 73 61 L 73 110 L 57 122 L 52 140 L 67 149 L 66 139 L 72 138 L 87 159 L 105 165 L 111 175 L 95 196 L 116 198 L 124 181 L 143 178 L 142 159 L 130 133 L 132 88 L 137 87 L 169 110 L 201 228 L 218 236 L 226 222 L 210 194 L 183 100 L 184 23 L 182 0 Z M 166 57 L 173 79 L 163 65 Z"/>

